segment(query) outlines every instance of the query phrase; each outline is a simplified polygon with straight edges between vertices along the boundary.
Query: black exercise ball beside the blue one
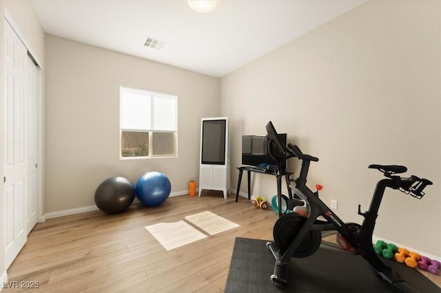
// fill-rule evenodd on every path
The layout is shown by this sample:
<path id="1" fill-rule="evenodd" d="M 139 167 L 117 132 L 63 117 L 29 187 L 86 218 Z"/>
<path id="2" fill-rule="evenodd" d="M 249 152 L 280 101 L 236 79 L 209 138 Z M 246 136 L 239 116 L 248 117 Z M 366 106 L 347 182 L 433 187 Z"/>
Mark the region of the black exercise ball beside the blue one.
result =
<path id="1" fill-rule="evenodd" d="M 95 191 L 96 206 L 107 214 L 123 213 L 135 199 L 135 188 L 124 177 L 110 177 Z"/>

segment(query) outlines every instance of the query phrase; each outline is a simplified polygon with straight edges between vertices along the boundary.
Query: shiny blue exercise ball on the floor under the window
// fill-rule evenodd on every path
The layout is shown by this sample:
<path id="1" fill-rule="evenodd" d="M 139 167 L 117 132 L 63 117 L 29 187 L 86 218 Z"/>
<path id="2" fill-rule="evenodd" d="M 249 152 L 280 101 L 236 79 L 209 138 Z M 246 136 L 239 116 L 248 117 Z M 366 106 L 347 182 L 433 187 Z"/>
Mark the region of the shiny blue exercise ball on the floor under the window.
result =
<path id="1" fill-rule="evenodd" d="M 163 173 L 149 172 L 139 177 L 136 197 L 146 206 L 158 206 L 170 195 L 172 184 Z"/>

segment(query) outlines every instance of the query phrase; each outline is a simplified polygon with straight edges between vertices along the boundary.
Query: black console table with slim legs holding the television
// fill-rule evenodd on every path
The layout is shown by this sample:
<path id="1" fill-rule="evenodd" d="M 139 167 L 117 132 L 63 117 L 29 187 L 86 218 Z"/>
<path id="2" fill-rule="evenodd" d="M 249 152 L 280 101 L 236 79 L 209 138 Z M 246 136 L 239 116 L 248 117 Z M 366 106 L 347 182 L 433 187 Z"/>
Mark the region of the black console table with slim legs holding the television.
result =
<path id="1" fill-rule="evenodd" d="M 292 199 L 292 193 L 291 193 L 291 188 L 289 188 L 289 182 L 291 180 L 291 175 L 294 174 L 294 172 L 289 172 L 289 171 L 269 171 L 267 169 L 260 169 L 260 168 L 256 168 L 256 167 L 252 167 L 252 166 L 240 166 L 237 167 L 236 169 L 238 169 L 239 171 L 239 177 L 238 177 L 238 182 L 237 182 L 237 191 L 236 191 L 236 202 L 238 201 L 239 198 L 239 191 L 240 191 L 240 183 L 242 182 L 242 175 L 243 175 L 243 171 L 247 171 L 247 183 L 248 183 L 248 199 L 250 199 L 250 195 L 251 195 L 251 173 L 260 173 L 260 174 L 267 174 L 267 175 L 273 175 L 276 176 L 277 179 L 277 195 L 278 195 L 278 206 L 282 206 L 282 177 L 285 176 L 285 181 L 287 184 L 287 188 L 288 188 L 288 194 L 289 194 L 289 199 Z M 278 209 L 278 215 L 279 217 L 282 215 L 282 209 L 279 208 Z"/>

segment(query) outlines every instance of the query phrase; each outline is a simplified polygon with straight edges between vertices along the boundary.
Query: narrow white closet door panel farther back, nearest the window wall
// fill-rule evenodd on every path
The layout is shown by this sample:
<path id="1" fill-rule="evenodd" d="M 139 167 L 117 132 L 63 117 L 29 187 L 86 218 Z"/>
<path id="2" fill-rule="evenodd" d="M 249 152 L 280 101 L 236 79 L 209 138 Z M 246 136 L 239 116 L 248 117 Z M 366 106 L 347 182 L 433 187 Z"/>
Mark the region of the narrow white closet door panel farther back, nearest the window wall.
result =
<path id="1" fill-rule="evenodd" d="M 26 218 L 27 234 L 37 224 L 37 196 L 38 196 L 38 69 L 30 57 L 28 66 L 28 212 Z"/>

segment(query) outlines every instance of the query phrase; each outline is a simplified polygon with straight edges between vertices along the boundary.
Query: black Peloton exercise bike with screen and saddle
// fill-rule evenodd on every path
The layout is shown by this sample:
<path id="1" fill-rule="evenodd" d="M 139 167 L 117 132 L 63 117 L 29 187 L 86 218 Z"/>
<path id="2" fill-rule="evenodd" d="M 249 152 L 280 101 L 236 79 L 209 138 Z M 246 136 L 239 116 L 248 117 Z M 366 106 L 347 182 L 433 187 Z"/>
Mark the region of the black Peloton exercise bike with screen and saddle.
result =
<path id="1" fill-rule="evenodd" d="M 356 252 L 366 259 L 376 272 L 385 281 L 398 287 L 402 292 L 417 292 L 409 283 L 393 271 L 378 257 L 373 250 L 372 234 L 378 217 L 378 209 L 386 188 L 393 188 L 421 199 L 423 189 L 432 182 L 411 175 L 400 177 L 398 174 L 407 171 L 405 166 L 396 165 L 370 165 L 369 169 L 377 169 L 386 177 L 378 181 L 369 210 L 361 212 L 358 205 L 358 215 L 364 217 L 362 225 L 344 223 L 325 203 L 318 198 L 318 191 L 311 191 L 306 185 L 307 173 L 311 162 L 318 162 L 318 158 L 302 153 L 296 145 L 283 144 L 278 140 L 276 129 L 271 121 L 266 125 L 269 137 L 269 151 L 277 160 L 298 158 L 302 161 L 300 175 L 291 187 L 294 198 L 294 213 L 286 213 L 278 218 L 274 225 L 274 242 L 267 242 L 276 263 L 274 274 L 271 275 L 273 283 L 284 285 L 288 281 L 288 265 L 291 257 L 308 257 L 320 247 L 322 235 L 329 231 L 336 231 L 338 243 L 345 250 Z M 280 191 L 278 191 L 280 200 Z M 280 204 L 280 202 L 279 202 Z M 291 203 L 291 205 L 293 205 Z M 320 219 L 318 219 L 320 217 Z"/>

